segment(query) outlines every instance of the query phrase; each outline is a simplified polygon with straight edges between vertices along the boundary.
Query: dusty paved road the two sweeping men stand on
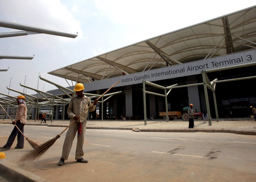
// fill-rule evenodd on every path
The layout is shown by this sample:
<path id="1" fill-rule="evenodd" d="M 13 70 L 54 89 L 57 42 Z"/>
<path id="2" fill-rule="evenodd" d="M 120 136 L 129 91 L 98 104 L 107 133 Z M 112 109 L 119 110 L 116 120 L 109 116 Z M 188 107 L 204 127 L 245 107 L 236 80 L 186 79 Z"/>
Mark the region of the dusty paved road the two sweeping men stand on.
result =
<path id="1" fill-rule="evenodd" d="M 6 142 L 12 128 L 10 124 L 1 125 L 0 143 Z M 41 144 L 63 129 L 28 125 L 25 134 Z M 255 135 L 87 129 L 84 157 L 89 163 L 76 163 L 72 149 L 65 165 L 60 167 L 57 162 L 64 138 L 65 133 L 40 159 L 18 166 L 48 181 L 253 181 L 256 178 Z M 32 150 L 25 141 L 24 149 L 5 151 L 5 160 L 16 163 L 28 149 Z"/>

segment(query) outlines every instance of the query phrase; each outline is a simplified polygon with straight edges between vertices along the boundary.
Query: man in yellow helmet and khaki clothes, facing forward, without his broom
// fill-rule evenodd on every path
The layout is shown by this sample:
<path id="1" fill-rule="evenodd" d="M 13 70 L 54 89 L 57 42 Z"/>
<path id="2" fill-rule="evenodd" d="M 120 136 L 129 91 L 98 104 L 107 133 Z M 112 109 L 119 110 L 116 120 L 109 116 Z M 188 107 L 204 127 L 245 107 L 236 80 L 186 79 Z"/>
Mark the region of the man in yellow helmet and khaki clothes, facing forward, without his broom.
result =
<path id="1" fill-rule="evenodd" d="M 72 143 L 74 141 L 76 132 L 77 132 L 77 143 L 76 143 L 76 153 L 75 159 L 77 162 L 87 163 L 88 161 L 83 158 L 83 143 L 84 143 L 84 134 L 86 130 L 87 116 L 88 112 L 87 108 L 91 105 L 91 100 L 89 97 L 83 94 L 84 85 L 82 83 L 77 83 L 74 87 L 74 91 L 76 95 L 71 98 L 69 106 L 68 106 L 68 116 L 70 117 L 71 124 L 74 120 L 75 123 L 72 124 L 67 131 L 65 136 L 65 141 L 63 144 L 62 155 L 60 161 L 58 163 L 59 166 L 64 165 L 64 161 L 68 159 L 68 155 L 70 153 Z M 89 108 L 89 111 L 92 112 L 96 108 L 97 99 L 94 100 L 93 105 Z M 83 113 L 83 111 L 85 111 Z M 82 114 L 83 113 L 83 114 Z M 82 114 L 80 116 L 80 114 Z"/>

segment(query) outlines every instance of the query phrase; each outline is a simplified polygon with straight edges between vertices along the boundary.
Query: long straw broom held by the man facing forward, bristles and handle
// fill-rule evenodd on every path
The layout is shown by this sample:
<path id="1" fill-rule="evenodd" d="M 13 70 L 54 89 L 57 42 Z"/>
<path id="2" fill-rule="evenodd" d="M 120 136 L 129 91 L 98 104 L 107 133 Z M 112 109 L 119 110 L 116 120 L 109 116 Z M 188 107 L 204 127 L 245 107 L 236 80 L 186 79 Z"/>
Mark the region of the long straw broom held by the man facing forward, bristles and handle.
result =
<path id="1" fill-rule="evenodd" d="M 106 94 L 117 83 L 119 83 L 119 81 L 113 84 L 106 92 L 104 92 L 101 96 L 99 96 L 97 100 L 100 99 L 104 94 Z M 78 117 L 80 117 L 84 112 L 86 112 L 92 105 L 93 103 L 86 110 L 84 110 Z M 71 124 L 69 124 L 69 126 L 67 126 L 65 130 L 63 130 L 60 134 L 58 134 L 53 139 L 50 139 L 49 141 L 39 145 L 38 147 L 36 147 L 34 150 L 30 151 L 26 155 L 23 155 L 23 157 L 19 159 L 19 163 L 32 162 L 35 159 L 41 157 L 54 144 L 54 142 L 56 142 L 57 139 L 60 138 L 60 135 L 63 134 L 63 132 L 66 131 L 74 122 L 75 120 Z"/>

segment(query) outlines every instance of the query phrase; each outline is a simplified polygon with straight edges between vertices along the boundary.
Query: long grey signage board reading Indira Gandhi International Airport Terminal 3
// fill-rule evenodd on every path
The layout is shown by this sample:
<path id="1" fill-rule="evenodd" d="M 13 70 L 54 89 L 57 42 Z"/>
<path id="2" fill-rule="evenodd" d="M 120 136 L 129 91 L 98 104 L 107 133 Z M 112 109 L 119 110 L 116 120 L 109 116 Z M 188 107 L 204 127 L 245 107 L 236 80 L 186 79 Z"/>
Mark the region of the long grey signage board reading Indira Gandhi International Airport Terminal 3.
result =
<path id="1" fill-rule="evenodd" d="M 142 83 L 142 80 L 153 82 L 182 76 L 201 74 L 203 70 L 214 70 L 217 68 L 236 66 L 256 62 L 256 50 L 238 52 L 215 58 L 203 59 L 194 62 L 176 64 L 150 71 L 138 72 L 129 75 L 118 76 L 92 83 L 86 83 L 85 91 L 99 90 L 111 87 L 120 81 L 116 87 Z"/>

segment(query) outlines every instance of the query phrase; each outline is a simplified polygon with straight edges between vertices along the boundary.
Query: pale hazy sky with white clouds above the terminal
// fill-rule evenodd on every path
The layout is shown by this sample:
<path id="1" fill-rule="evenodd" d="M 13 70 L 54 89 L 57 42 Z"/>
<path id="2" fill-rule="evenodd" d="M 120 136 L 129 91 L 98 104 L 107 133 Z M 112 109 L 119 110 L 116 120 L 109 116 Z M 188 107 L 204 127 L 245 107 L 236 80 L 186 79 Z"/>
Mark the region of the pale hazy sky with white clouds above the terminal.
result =
<path id="1" fill-rule="evenodd" d="M 32 60 L 1 59 L 0 93 L 19 83 L 49 91 L 68 86 L 47 72 L 202 21 L 255 5 L 255 1 L 205 0 L 0 0 L 0 20 L 76 33 L 73 38 L 34 34 L 0 39 L 0 55 L 33 56 Z M 0 32 L 20 31 L 0 27 Z M 71 81 L 68 81 L 72 85 Z M 74 83 L 74 82 L 73 82 Z M 75 83 L 74 83 L 75 84 Z M 85 85 L 86 86 L 86 85 Z M 35 94 L 26 89 L 27 94 Z M 10 91 L 10 95 L 19 95 Z M 0 95 L 2 97 L 2 95 Z"/>

